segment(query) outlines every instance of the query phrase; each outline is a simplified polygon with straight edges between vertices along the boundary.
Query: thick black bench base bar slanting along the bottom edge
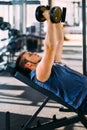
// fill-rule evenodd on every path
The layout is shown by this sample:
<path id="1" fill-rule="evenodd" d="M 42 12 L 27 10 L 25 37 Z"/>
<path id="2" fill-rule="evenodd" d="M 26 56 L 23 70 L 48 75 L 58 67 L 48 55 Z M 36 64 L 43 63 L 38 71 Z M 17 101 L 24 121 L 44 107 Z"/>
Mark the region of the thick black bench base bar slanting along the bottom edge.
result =
<path id="1" fill-rule="evenodd" d="M 76 115 L 76 116 L 72 116 L 72 117 L 64 117 L 61 119 L 55 119 L 53 121 L 47 122 L 47 123 L 43 123 L 40 126 L 35 126 L 32 128 L 29 128 L 27 130 L 54 130 L 55 128 L 60 128 L 63 126 L 68 126 L 70 124 L 74 124 L 80 121 L 80 118 Z"/>

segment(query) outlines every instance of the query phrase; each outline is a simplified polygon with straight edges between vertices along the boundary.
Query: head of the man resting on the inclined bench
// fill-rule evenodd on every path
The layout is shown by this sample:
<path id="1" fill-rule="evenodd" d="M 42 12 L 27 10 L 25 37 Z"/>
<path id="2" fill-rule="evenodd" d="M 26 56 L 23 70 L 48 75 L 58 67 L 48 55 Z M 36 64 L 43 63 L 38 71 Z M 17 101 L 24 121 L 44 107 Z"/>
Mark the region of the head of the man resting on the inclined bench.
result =
<path id="1" fill-rule="evenodd" d="M 16 60 L 16 69 L 28 74 L 31 70 L 34 70 L 41 60 L 41 56 L 37 53 L 22 52 Z"/>

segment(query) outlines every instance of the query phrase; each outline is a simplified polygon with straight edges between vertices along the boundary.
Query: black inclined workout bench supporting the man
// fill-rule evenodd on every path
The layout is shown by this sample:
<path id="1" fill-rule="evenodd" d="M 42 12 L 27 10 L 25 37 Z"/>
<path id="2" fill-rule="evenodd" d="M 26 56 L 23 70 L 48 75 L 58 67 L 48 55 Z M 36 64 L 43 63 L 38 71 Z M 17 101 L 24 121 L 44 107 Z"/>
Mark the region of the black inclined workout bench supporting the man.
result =
<path id="1" fill-rule="evenodd" d="M 27 76 L 25 76 L 24 74 L 20 73 L 19 71 L 17 71 L 15 69 L 15 67 L 11 67 L 11 66 L 7 66 L 6 67 L 6 71 L 8 73 L 10 73 L 13 77 L 15 77 L 16 79 L 20 80 L 21 82 L 27 84 L 28 86 L 32 87 L 33 89 L 39 91 L 40 93 L 42 93 L 43 95 L 46 96 L 46 99 L 43 101 L 42 105 L 38 108 L 38 110 L 34 113 L 34 115 L 27 120 L 27 122 L 24 124 L 24 126 L 21 128 L 21 130 L 52 130 L 55 128 L 60 128 L 63 126 L 68 126 L 70 124 L 74 124 L 77 122 L 81 122 L 85 128 L 87 128 L 87 117 L 86 117 L 86 113 L 83 114 L 79 109 L 76 110 L 74 109 L 72 106 L 70 106 L 69 104 L 67 104 L 66 102 L 64 102 L 60 97 L 57 97 L 55 94 L 53 94 L 52 92 L 49 92 L 48 90 L 38 86 L 37 84 L 35 84 L 34 82 L 32 82 Z M 72 111 L 75 112 L 76 115 L 71 116 L 71 117 L 64 117 L 64 118 L 60 118 L 57 119 L 56 115 L 53 116 L 53 119 L 49 122 L 43 123 L 41 124 L 39 121 L 37 122 L 36 126 L 32 126 L 29 127 L 30 124 L 34 121 L 34 119 L 37 117 L 37 115 L 40 113 L 40 111 L 43 109 L 43 107 L 46 105 L 46 103 L 49 100 L 54 100 L 57 103 L 63 105 L 64 107 L 66 107 L 66 109 L 59 109 L 59 111 Z M 9 114 L 7 113 L 6 116 L 6 127 L 8 130 L 9 129 Z"/>

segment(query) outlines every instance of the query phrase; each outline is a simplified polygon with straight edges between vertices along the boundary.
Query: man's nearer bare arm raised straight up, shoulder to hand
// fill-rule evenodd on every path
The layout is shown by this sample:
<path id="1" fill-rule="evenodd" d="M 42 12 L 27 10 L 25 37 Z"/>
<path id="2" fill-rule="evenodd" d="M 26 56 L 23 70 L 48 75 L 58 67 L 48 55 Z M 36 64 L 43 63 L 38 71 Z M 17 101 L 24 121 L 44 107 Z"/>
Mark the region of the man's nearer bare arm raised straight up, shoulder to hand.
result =
<path id="1" fill-rule="evenodd" d="M 44 16 L 47 19 L 48 24 L 47 34 L 44 43 L 44 55 L 41 62 L 36 68 L 36 77 L 39 81 L 42 82 L 46 81 L 51 74 L 52 65 L 55 61 L 55 55 L 57 51 L 56 48 L 58 44 L 60 44 L 60 40 L 58 40 L 58 36 L 56 36 L 56 33 L 58 33 L 59 39 L 61 39 L 60 24 L 55 25 L 50 21 L 48 11 L 44 12 Z M 56 26 L 59 32 L 57 32 Z"/>

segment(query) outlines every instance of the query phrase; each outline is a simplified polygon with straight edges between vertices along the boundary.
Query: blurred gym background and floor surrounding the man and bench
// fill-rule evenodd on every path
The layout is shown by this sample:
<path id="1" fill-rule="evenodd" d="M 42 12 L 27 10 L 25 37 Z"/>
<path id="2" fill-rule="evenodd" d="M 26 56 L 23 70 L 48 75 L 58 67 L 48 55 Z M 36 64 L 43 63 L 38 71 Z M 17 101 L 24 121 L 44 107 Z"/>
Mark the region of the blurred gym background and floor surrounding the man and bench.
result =
<path id="1" fill-rule="evenodd" d="M 35 51 L 43 56 L 47 24 L 36 20 L 35 11 L 40 5 L 66 8 L 65 22 L 62 22 L 62 62 L 87 76 L 87 0 L 0 0 L 0 130 L 20 130 L 44 99 L 44 95 L 5 71 L 7 65 L 15 64 L 22 51 Z M 58 112 L 60 107 L 49 101 L 38 117 L 48 121 L 54 114 L 58 118 L 72 115 Z M 6 122 L 7 111 L 10 125 Z M 10 127 L 6 128 L 7 125 Z M 86 129 L 77 123 L 58 130 Z"/>

